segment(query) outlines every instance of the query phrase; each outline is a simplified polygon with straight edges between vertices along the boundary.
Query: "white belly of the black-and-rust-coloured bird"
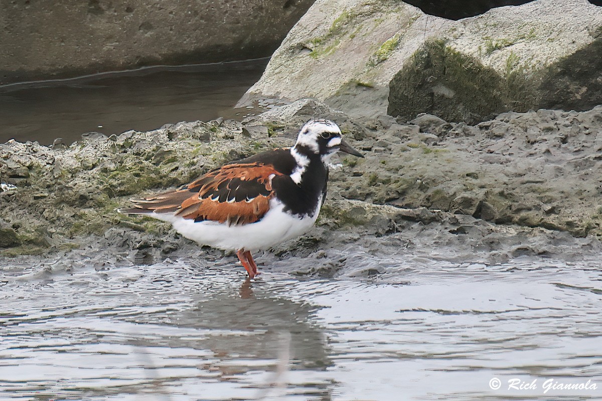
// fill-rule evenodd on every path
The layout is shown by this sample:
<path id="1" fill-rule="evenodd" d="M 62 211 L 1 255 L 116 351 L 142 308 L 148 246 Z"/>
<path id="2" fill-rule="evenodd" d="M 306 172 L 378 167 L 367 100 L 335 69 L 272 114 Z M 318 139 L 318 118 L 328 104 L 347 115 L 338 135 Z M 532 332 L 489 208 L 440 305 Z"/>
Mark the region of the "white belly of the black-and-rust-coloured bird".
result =
<path id="1" fill-rule="evenodd" d="M 258 222 L 231 225 L 215 221 L 194 222 L 175 216 L 173 213 L 151 213 L 149 216 L 173 224 L 178 233 L 194 240 L 201 245 L 209 245 L 225 250 L 258 251 L 278 245 L 285 240 L 300 236 L 312 227 L 320 213 L 321 201 L 313 216 L 299 219 L 284 212 L 284 205 L 276 200 L 270 200 L 270 210 Z"/>

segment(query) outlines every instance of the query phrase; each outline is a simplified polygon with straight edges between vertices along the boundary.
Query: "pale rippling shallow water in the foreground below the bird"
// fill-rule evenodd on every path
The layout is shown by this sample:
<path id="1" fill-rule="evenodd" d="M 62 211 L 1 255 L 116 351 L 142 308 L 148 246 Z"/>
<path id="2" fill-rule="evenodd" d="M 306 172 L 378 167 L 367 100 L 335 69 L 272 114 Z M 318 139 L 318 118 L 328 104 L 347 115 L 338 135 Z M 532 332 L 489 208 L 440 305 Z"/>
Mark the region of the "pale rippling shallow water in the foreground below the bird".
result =
<path id="1" fill-rule="evenodd" d="M 593 260 L 403 255 L 371 260 L 380 274 L 334 278 L 295 275 L 270 254 L 258 262 L 253 282 L 232 257 L 5 266 L 2 399 L 602 397 Z M 514 378 L 538 388 L 508 389 Z M 547 379 L 598 389 L 544 393 Z"/>

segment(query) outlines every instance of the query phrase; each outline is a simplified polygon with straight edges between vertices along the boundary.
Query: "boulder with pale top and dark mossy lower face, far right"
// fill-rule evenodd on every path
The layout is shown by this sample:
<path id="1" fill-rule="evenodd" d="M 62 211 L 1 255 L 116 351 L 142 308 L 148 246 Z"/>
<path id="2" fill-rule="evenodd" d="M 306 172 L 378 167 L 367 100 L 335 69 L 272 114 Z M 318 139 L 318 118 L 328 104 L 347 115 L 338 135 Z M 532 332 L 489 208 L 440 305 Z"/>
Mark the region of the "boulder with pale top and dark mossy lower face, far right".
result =
<path id="1" fill-rule="evenodd" d="M 476 123 L 503 111 L 602 103 L 602 9 L 539 0 L 460 20 L 389 84 L 388 113 Z"/>

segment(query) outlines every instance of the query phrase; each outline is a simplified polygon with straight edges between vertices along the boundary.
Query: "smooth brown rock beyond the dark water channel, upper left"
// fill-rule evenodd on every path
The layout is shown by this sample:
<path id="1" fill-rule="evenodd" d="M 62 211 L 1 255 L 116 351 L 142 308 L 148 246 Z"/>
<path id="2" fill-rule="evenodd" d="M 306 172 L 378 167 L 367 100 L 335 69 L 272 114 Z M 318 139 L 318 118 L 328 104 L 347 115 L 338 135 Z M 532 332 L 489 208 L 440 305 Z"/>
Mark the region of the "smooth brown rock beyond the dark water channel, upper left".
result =
<path id="1" fill-rule="evenodd" d="M 0 84 L 268 57 L 313 0 L 0 2 Z"/>

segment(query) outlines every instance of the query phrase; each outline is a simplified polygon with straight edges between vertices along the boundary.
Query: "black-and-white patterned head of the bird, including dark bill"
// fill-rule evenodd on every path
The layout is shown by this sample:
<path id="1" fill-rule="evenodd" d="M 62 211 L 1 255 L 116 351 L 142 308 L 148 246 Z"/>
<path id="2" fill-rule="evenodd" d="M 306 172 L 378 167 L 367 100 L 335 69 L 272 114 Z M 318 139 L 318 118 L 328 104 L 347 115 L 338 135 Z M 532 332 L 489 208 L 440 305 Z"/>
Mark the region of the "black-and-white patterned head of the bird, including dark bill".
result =
<path id="1" fill-rule="evenodd" d="M 330 156 L 338 151 L 364 157 L 343 139 L 341 129 L 330 120 L 308 121 L 299 132 L 295 148 L 306 155 L 320 155 L 324 162 L 329 161 Z"/>

